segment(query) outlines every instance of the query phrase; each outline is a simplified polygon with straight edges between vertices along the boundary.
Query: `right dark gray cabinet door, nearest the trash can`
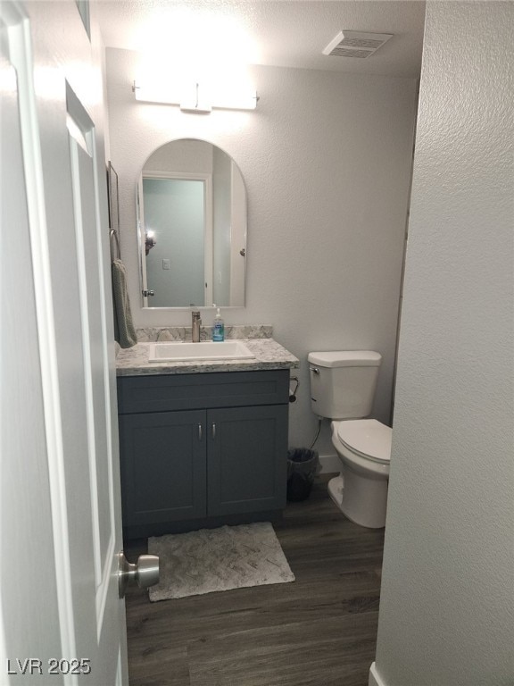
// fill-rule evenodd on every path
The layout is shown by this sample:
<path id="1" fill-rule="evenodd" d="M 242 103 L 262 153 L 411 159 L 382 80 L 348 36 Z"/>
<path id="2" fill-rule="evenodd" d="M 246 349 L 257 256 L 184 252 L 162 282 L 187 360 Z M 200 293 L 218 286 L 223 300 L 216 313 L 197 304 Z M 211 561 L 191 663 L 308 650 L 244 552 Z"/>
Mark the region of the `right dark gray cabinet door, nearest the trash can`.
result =
<path id="1" fill-rule="evenodd" d="M 286 506 L 287 411 L 286 405 L 208 411 L 209 515 Z"/>

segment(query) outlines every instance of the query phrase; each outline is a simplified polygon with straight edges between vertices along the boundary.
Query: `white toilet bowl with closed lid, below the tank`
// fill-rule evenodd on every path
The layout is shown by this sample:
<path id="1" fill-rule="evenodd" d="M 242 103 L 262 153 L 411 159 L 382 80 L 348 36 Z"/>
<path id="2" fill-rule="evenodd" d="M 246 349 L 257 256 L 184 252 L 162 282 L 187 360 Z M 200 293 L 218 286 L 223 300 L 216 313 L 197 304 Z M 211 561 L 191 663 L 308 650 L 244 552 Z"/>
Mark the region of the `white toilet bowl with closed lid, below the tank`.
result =
<path id="1" fill-rule="evenodd" d="M 328 482 L 330 498 L 352 522 L 380 529 L 386 525 L 393 431 L 376 419 L 335 421 L 331 428 L 341 473 Z"/>

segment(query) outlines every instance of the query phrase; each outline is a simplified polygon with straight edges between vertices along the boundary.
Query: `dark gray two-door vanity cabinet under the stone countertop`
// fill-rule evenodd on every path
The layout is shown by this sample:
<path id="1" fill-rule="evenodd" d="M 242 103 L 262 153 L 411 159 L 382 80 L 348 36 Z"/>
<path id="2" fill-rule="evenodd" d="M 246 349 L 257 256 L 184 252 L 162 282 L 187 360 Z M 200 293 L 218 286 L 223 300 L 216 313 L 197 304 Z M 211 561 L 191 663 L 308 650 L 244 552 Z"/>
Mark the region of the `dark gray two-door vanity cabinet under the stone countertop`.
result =
<path id="1" fill-rule="evenodd" d="M 288 370 L 120 377 L 125 535 L 276 518 L 288 389 Z"/>

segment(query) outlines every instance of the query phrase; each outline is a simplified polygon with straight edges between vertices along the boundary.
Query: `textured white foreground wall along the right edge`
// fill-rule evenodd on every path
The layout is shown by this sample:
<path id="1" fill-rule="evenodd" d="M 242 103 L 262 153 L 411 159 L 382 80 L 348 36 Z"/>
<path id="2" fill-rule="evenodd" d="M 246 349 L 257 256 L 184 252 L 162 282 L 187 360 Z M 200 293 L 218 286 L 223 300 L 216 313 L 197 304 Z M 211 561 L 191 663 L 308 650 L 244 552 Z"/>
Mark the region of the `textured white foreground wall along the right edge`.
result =
<path id="1" fill-rule="evenodd" d="M 512 3 L 427 4 L 377 640 L 386 686 L 514 683 L 513 27 Z"/>

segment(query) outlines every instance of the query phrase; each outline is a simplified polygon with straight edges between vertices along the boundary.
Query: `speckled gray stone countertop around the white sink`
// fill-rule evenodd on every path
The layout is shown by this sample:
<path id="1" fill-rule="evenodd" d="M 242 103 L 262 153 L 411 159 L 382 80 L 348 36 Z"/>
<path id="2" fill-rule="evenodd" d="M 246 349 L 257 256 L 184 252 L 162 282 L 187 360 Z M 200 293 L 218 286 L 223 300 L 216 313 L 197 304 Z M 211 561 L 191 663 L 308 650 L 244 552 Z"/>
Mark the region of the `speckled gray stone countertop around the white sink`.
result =
<path id="1" fill-rule="evenodd" d="M 253 370 L 292 369 L 300 361 L 274 339 L 244 339 L 254 358 L 245 360 L 187 360 L 186 362 L 148 362 L 150 343 L 139 342 L 120 350 L 116 358 L 118 376 L 145 374 L 191 374 L 204 372 L 250 372 Z"/>

